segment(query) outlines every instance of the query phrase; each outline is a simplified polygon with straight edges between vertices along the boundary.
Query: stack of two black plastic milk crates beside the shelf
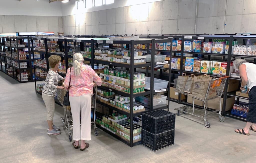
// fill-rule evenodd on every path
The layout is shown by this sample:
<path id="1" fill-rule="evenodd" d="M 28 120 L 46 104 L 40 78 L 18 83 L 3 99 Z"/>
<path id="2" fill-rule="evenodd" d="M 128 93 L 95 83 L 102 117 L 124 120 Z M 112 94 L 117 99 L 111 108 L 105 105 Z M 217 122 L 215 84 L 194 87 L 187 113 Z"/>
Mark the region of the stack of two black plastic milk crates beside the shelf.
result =
<path id="1" fill-rule="evenodd" d="M 157 151 L 173 145 L 174 134 L 174 113 L 160 109 L 142 114 L 142 145 Z"/>

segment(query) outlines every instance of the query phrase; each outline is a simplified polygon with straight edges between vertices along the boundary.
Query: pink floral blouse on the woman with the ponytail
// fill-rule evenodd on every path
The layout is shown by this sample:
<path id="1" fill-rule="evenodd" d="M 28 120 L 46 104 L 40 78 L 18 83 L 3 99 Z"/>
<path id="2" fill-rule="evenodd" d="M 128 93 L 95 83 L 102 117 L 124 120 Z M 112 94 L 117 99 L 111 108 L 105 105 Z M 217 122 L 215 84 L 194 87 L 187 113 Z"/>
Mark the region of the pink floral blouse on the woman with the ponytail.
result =
<path id="1" fill-rule="evenodd" d="M 67 71 L 66 79 L 63 83 L 65 89 L 68 89 L 70 80 L 70 68 Z M 101 85 L 101 79 L 98 74 L 87 64 L 82 64 L 82 71 L 80 77 L 74 74 L 74 68 L 71 69 L 71 81 L 69 88 L 69 96 L 82 96 L 84 94 L 93 93 L 93 81 L 97 85 Z"/>

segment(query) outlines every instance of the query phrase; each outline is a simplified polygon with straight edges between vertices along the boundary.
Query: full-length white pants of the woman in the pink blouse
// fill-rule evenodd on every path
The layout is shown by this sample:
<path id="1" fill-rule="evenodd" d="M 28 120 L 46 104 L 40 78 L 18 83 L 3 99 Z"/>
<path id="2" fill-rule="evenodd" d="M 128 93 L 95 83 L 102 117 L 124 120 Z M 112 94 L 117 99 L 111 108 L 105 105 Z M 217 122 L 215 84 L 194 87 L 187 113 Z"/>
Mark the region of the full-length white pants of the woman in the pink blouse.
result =
<path id="1" fill-rule="evenodd" d="M 91 94 L 69 96 L 73 117 L 73 139 L 91 140 Z M 80 129 L 81 112 L 81 129 Z"/>

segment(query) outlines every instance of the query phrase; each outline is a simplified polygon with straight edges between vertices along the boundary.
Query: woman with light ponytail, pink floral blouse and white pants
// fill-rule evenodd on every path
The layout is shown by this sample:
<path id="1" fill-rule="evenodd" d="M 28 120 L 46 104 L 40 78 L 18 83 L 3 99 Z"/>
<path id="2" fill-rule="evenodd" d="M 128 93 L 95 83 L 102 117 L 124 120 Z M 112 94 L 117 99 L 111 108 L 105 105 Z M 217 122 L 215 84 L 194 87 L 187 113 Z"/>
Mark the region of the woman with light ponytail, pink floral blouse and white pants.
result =
<path id="1" fill-rule="evenodd" d="M 79 140 L 81 140 L 80 150 L 89 147 L 89 143 L 85 143 L 85 140 L 91 140 L 91 96 L 94 82 L 96 85 L 101 85 L 101 79 L 97 73 L 83 62 L 81 53 L 74 54 L 73 67 L 68 69 L 66 80 L 63 83 L 65 89 L 68 89 L 70 81 L 69 101 L 73 117 L 73 139 L 75 140 L 72 145 L 78 149 Z"/>

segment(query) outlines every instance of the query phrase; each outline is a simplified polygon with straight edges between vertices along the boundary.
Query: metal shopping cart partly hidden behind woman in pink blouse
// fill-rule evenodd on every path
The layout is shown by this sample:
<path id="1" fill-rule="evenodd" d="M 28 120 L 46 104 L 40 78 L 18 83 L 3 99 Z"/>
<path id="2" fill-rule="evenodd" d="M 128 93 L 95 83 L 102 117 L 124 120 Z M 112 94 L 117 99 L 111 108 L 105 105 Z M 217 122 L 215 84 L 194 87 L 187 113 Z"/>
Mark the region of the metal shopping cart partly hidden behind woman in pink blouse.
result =
<path id="1" fill-rule="evenodd" d="M 62 120 L 65 128 L 68 130 L 68 138 L 69 141 L 72 141 L 72 135 L 70 133 L 70 130 L 73 129 L 73 120 L 72 120 L 72 113 L 71 113 L 71 108 L 70 106 L 64 106 L 63 105 L 63 99 L 64 96 L 66 94 L 66 90 L 64 89 L 57 89 L 57 99 L 59 100 L 60 104 L 62 105 L 62 107 L 64 108 L 64 116 L 60 117 L 60 119 Z M 96 136 L 98 136 L 99 132 L 98 132 L 98 128 L 95 125 L 95 112 L 96 112 L 96 97 L 97 97 L 97 86 L 93 87 L 93 94 L 92 94 L 92 102 L 91 102 L 91 108 L 94 110 L 93 112 L 93 121 L 91 122 L 91 124 L 94 125 L 94 134 Z M 81 123 L 80 123 L 81 126 Z"/>

